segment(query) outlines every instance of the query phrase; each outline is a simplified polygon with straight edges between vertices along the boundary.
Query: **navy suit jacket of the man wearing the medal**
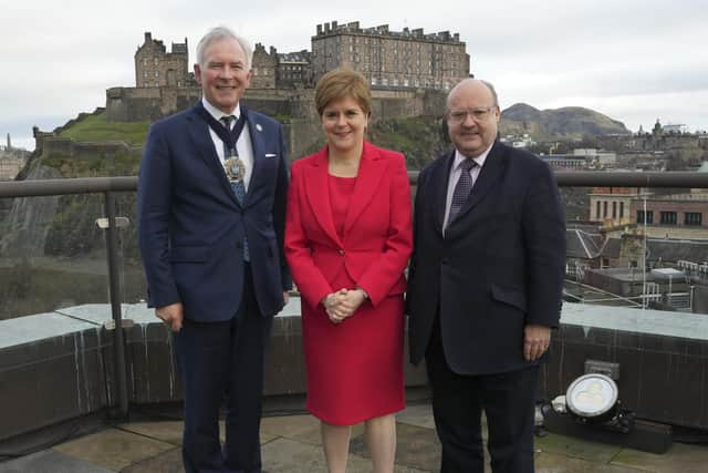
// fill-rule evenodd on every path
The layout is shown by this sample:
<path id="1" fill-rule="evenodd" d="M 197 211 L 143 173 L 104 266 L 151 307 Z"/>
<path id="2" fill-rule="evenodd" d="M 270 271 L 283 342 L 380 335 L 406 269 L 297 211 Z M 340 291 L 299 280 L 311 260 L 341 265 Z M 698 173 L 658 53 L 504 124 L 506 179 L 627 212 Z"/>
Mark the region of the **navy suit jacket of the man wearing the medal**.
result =
<path id="1" fill-rule="evenodd" d="M 288 160 L 282 126 L 248 112 L 253 173 L 243 205 L 219 162 L 207 122 L 191 109 L 150 127 L 138 178 L 138 239 L 148 306 L 181 302 L 195 321 L 232 318 L 242 300 L 248 238 L 260 311 L 291 287 L 283 256 Z"/>

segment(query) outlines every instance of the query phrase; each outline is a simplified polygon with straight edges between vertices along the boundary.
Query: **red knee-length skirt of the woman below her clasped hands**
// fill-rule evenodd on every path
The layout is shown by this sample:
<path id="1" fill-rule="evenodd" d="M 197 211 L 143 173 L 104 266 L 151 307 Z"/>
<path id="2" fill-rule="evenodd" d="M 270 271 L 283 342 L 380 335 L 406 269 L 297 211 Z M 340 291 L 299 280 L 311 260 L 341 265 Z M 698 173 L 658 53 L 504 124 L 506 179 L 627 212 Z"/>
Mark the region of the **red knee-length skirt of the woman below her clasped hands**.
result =
<path id="1" fill-rule="evenodd" d="M 302 338 L 310 412 L 334 425 L 353 425 L 405 408 L 404 300 L 374 308 L 365 300 L 332 323 L 322 305 L 302 301 Z"/>

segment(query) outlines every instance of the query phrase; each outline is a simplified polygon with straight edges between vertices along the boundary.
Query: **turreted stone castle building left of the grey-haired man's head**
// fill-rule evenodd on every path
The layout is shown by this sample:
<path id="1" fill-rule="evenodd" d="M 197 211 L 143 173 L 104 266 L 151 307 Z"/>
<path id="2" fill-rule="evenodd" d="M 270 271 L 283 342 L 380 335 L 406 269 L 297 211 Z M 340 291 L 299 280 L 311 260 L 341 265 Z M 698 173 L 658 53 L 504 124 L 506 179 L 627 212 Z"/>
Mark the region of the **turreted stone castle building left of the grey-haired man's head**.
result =
<path id="1" fill-rule="evenodd" d="M 135 53 L 135 86 L 184 88 L 191 82 L 187 38 L 184 43 L 173 43 L 171 52 L 167 52 L 162 41 L 146 32 L 145 42 Z"/>

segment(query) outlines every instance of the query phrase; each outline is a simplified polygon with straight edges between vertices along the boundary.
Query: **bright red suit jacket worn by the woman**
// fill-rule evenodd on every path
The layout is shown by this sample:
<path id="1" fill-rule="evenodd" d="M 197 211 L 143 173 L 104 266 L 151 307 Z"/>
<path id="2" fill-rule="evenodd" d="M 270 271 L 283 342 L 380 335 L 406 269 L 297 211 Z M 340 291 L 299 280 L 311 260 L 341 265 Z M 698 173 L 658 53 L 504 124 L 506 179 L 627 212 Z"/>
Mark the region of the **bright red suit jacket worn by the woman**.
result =
<path id="1" fill-rule="evenodd" d="M 342 270 L 368 294 L 374 307 L 387 296 L 404 294 L 403 273 L 412 248 L 410 187 L 400 153 L 364 143 L 343 238 L 332 219 L 327 147 L 292 164 L 285 256 L 311 307 L 341 289 L 329 281 Z"/>

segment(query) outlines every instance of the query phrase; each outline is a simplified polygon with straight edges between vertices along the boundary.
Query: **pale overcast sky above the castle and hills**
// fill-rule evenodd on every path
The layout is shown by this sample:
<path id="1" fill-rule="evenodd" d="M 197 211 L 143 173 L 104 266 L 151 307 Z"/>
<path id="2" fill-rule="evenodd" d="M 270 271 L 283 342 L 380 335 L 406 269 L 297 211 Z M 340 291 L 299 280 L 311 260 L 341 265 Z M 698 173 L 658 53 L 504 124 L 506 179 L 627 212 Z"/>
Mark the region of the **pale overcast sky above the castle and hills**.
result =
<path id="1" fill-rule="evenodd" d="M 0 133 L 33 147 L 105 105 L 105 90 L 135 85 L 144 32 L 189 41 L 226 24 L 279 52 L 311 49 L 319 23 L 360 21 L 426 33 L 458 32 L 471 71 L 496 84 L 502 109 L 585 106 L 629 130 L 683 123 L 708 130 L 708 0 L 314 1 L 0 0 Z M 493 3 L 493 4 L 492 4 Z"/>

